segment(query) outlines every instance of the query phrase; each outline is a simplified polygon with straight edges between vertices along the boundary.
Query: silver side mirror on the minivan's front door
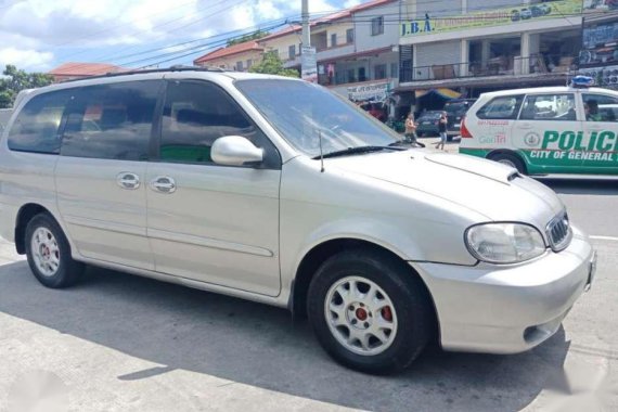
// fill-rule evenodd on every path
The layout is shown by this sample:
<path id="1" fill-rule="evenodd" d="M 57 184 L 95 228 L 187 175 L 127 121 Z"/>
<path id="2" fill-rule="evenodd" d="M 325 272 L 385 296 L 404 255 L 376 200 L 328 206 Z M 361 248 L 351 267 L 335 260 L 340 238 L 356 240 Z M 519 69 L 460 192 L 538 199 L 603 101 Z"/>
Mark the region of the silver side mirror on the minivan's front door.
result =
<path id="1" fill-rule="evenodd" d="M 218 165 L 255 165 L 263 160 L 263 150 L 256 147 L 242 136 L 224 136 L 213 143 L 210 157 Z"/>

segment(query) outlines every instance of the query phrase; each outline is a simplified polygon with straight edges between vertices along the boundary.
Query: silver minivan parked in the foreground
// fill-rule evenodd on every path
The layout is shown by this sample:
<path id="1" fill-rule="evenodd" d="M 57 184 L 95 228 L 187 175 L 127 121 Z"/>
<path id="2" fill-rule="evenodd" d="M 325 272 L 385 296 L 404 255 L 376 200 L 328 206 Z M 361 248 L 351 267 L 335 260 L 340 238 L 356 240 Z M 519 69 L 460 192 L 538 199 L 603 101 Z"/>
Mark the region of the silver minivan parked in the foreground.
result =
<path id="1" fill-rule="evenodd" d="M 0 235 L 48 287 L 93 265 L 288 308 L 370 373 L 430 340 L 530 349 L 595 267 L 555 193 L 508 166 L 410 150 L 317 85 L 193 68 L 28 93 L 0 144 Z"/>

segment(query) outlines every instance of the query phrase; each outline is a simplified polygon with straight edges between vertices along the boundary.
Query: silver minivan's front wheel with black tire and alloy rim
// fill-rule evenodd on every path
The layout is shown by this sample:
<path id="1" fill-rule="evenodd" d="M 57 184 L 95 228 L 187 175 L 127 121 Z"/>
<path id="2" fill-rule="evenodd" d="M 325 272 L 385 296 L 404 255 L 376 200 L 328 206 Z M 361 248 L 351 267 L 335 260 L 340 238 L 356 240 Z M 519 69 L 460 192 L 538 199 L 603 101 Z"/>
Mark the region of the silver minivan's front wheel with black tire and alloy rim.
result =
<path id="1" fill-rule="evenodd" d="M 346 291 L 346 284 L 357 296 L 344 300 L 339 292 Z M 377 293 L 369 299 L 372 289 Z M 423 282 L 405 263 L 359 248 L 339 253 L 318 269 L 309 286 L 307 312 L 318 340 L 335 361 L 357 371 L 387 374 L 407 369 L 429 340 L 430 305 Z M 382 337 L 372 335 L 374 331 Z M 364 336 L 366 345 L 352 335 Z"/>

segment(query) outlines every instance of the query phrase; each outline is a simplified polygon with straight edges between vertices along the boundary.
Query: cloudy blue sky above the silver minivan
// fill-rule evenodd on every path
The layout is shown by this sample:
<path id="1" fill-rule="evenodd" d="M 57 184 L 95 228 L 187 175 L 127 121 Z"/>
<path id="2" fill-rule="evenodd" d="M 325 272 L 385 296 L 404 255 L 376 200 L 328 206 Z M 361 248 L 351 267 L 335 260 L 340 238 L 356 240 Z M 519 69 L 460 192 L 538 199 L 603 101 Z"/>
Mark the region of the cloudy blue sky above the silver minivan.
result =
<path id="1" fill-rule="evenodd" d="M 366 0 L 309 0 L 313 15 Z M 130 68 L 191 62 L 257 28 L 300 17 L 300 0 L 0 0 L 0 67 L 66 62 Z M 287 23 L 289 24 L 289 23 Z"/>

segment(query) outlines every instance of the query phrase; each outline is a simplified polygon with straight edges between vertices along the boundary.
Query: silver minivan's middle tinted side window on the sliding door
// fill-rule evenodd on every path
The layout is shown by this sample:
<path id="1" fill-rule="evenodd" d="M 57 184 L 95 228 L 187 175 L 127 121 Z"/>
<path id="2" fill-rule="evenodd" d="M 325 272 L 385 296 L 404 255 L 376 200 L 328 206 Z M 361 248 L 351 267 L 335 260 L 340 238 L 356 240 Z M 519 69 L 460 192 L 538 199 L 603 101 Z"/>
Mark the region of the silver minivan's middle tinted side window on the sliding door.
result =
<path id="1" fill-rule="evenodd" d="M 81 88 L 65 128 L 62 155 L 147 160 L 160 82 Z"/>

